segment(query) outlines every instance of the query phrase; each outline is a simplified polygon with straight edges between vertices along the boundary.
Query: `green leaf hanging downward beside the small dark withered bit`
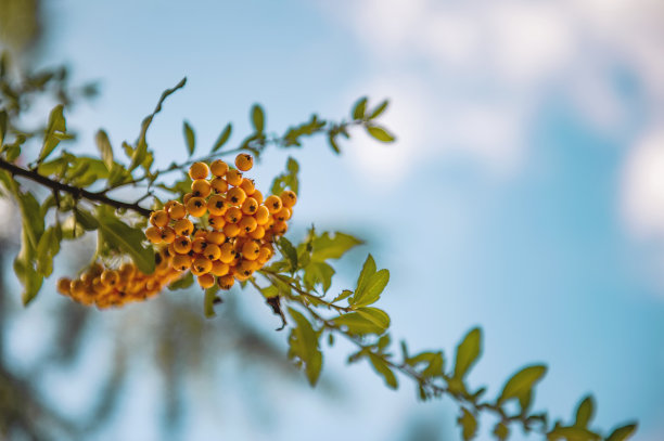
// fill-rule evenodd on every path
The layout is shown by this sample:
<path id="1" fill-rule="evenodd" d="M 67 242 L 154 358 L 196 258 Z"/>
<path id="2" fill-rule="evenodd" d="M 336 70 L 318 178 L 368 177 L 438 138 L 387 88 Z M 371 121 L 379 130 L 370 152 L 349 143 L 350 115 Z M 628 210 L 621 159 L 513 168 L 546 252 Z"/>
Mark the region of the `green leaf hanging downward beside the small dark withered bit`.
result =
<path id="1" fill-rule="evenodd" d="M 296 324 L 289 337 L 289 356 L 299 359 L 305 364 L 307 379 L 311 386 L 315 386 L 322 368 L 322 352 L 319 349 L 318 335 L 309 321 L 293 308 L 289 308 L 289 315 Z"/>

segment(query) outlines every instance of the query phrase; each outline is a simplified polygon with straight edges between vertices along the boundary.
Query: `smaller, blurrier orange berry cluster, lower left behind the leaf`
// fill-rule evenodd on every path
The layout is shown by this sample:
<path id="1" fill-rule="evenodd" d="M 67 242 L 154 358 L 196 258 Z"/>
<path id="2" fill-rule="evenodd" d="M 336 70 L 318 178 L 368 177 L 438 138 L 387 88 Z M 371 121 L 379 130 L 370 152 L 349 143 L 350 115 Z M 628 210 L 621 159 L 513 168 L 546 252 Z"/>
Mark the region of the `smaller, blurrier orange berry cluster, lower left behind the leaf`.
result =
<path id="1" fill-rule="evenodd" d="M 79 303 L 95 304 L 99 309 L 146 300 L 182 275 L 170 267 L 166 249 L 155 254 L 155 262 L 152 274 L 143 274 L 129 262 L 115 270 L 94 262 L 78 278 L 60 278 L 58 291 Z"/>

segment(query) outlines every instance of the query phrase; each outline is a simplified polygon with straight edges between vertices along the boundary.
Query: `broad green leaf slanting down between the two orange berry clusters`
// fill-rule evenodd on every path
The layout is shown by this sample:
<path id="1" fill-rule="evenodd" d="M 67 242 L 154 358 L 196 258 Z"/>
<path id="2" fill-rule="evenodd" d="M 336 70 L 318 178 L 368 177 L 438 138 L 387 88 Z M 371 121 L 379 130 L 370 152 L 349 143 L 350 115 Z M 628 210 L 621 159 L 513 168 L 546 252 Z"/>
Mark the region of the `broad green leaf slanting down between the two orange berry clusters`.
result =
<path id="1" fill-rule="evenodd" d="M 115 216 L 101 215 L 98 220 L 99 229 L 106 242 L 129 254 L 141 272 L 145 274 L 154 272 L 154 251 L 141 245 L 145 235 L 140 229 L 127 225 Z"/>

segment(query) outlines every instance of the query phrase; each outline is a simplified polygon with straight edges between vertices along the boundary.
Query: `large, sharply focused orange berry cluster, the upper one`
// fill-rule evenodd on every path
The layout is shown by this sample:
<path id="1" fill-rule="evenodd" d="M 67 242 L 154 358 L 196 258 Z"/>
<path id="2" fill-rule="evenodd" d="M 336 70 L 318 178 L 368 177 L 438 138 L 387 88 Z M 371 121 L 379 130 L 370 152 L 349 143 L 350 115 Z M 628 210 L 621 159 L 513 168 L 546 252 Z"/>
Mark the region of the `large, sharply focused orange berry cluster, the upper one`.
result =
<path id="1" fill-rule="evenodd" d="M 191 271 L 203 288 L 216 282 L 230 289 L 235 280 L 248 280 L 272 257 L 273 238 L 288 230 L 297 196 L 288 190 L 264 199 L 254 181 L 242 176 L 253 165 L 248 154 L 238 155 L 237 169 L 221 159 L 209 166 L 194 163 L 191 193 L 150 216 L 145 237 L 168 244 L 171 268 Z"/>

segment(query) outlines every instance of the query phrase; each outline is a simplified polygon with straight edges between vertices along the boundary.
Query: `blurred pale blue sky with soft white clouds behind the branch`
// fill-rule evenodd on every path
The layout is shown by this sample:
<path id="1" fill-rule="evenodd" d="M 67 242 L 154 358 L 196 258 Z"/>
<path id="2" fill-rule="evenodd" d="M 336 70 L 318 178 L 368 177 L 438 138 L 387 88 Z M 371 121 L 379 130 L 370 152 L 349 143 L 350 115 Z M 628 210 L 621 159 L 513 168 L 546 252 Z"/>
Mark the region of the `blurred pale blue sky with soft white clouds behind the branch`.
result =
<path id="1" fill-rule="evenodd" d="M 664 9 L 646 0 L 71 0 L 47 13 L 44 62 L 67 61 L 77 79 L 102 86 L 71 115 L 79 152 L 99 127 L 114 145 L 133 140 L 183 76 L 186 89 L 149 135 L 162 165 L 186 154 L 184 118 L 209 145 L 229 120 L 235 133 L 247 129 L 254 102 L 281 131 L 311 112 L 345 116 L 360 95 L 391 98 L 384 119 L 396 144 L 358 132 L 342 157 L 322 140 L 296 152 L 293 237 L 311 222 L 366 237 L 353 263 L 371 251 L 391 270 L 383 306 L 413 348 L 451 356 L 482 325 L 472 378 L 494 392 L 516 367 L 546 362 L 537 403 L 552 415 L 569 418 L 593 392 L 600 427 L 638 418 L 637 439 L 664 434 L 664 69 L 655 60 Z M 285 157 L 268 154 L 257 173 L 271 177 Z M 335 288 L 354 281 L 355 267 L 340 267 Z M 245 302 L 243 311 L 267 316 L 260 299 Z M 404 424 L 426 418 L 458 437 L 449 402 L 418 404 L 406 381 L 387 391 L 369 367 L 344 360 L 343 348 L 332 350 L 323 374 L 347 385 L 343 404 L 274 385 L 263 391 L 281 400 L 269 430 L 229 424 L 251 421 L 242 411 L 217 426 L 203 410 L 189 439 L 325 440 L 347 430 L 396 440 Z M 138 439 L 126 430 L 110 437 Z M 156 439 L 143 430 L 141 439 Z"/>

